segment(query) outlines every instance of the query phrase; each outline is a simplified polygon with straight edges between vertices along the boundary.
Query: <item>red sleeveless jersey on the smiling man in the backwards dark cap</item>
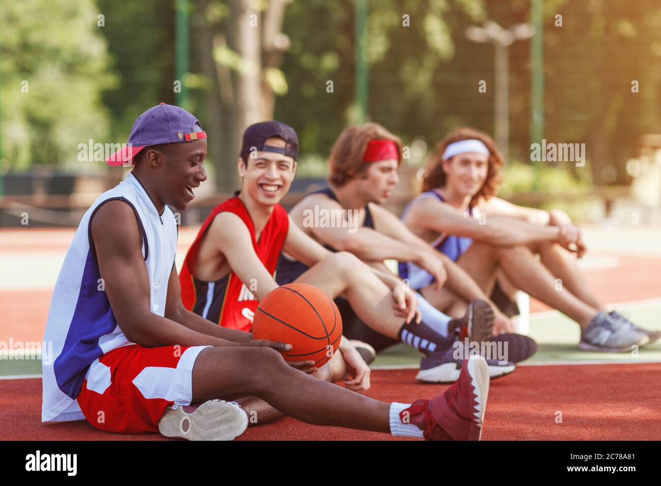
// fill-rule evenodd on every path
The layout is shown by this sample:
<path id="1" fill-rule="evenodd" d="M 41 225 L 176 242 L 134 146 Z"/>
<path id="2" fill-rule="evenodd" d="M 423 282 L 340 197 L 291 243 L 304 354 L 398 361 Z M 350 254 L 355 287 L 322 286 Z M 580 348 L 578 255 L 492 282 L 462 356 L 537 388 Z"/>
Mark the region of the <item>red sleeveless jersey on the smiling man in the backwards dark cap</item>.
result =
<path id="1" fill-rule="evenodd" d="M 234 213 L 245 223 L 253 240 L 253 250 L 270 274 L 276 271 L 278 255 L 282 251 L 289 229 L 289 218 L 285 209 L 276 204 L 262 229 L 259 241 L 256 241 L 253 220 L 243 202 L 237 197 L 228 199 L 216 206 L 206 218 L 181 268 L 181 300 L 186 309 L 223 327 L 250 332 L 254 312 L 259 304 L 249 290 L 250 282 L 246 286 L 233 270 L 215 282 L 204 282 L 190 272 L 204 233 L 221 212 Z"/>

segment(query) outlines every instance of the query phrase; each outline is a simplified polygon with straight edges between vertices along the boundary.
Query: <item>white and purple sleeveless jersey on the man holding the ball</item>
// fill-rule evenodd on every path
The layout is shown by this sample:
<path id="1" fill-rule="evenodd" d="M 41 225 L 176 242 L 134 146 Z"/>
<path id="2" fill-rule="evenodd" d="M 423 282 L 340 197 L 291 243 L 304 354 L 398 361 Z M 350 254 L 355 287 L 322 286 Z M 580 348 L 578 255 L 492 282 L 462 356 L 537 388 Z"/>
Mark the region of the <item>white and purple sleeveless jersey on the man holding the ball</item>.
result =
<path id="1" fill-rule="evenodd" d="M 44 356 L 42 421 L 82 420 L 76 401 L 93 362 L 106 352 L 134 344 L 117 325 L 104 292 L 95 251 L 90 247 L 90 221 L 101 204 L 123 200 L 136 214 L 142 233 L 142 254 L 149 274 L 151 311 L 165 314 L 170 272 L 175 264 L 177 225 L 172 210 L 159 215 L 137 178 L 126 180 L 98 196 L 87 210 L 59 271 L 48 311 L 44 341 L 53 356 Z"/>

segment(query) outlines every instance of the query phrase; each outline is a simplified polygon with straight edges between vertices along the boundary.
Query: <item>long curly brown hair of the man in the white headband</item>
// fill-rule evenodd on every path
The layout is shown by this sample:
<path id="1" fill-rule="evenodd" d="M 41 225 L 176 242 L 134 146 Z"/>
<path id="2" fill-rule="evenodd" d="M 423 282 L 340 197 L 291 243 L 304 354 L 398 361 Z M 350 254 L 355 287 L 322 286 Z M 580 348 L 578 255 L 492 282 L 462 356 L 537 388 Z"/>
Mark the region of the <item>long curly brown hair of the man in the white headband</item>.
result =
<path id="1" fill-rule="evenodd" d="M 459 140 L 479 140 L 486 145 L 490 152 L 488 160 L 488 172 L 486 173 L 486 181 L 479 191 L 471 199 L 471 206 L 475 206 L 482 198 L 487 200 L 491 196 L 495 196 L 498 192 L 498 186 L 502 182 L 502 174 L 500 169 L 503 165 L 502 155 L 493 139 L 475 128 L 462 127 L 453 130 L 446 137 L 438 142 L 436 149 L 430 159 L 427 171 L 422 176 L 422 192 L 442 187 L 446 184 L 446 173 L 443 170 L 443 153 L 446 151 L 447 145 Z"/>

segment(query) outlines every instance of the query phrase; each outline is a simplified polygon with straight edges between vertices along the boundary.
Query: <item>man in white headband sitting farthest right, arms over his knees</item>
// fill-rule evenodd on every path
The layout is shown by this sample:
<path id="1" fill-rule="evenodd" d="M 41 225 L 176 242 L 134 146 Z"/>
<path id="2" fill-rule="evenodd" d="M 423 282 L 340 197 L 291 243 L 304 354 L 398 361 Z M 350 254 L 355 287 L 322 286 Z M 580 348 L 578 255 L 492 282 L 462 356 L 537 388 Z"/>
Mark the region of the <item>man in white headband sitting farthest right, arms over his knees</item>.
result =
<path id="1" fill-rule="evenodd" d="M 408 229 L 456 261 L 492 300 L 498 281 L 574 319 L 582 330 L 581 349 L 624 352 L 659 339 L 661 333 L 637 327 L 614 311 L 606 313 L 571 255 L 582 257 L 586 247 L 566 214 L 494 197 L 502 163 L 486 134 L 460 128 L 447 135 L 424 176 L 422 194 L 402 216 Z M 447 289 L 436 290 L 433 277 L 415 264 L 401 266 L 400 274 L 439 309 L 460 310 L 461 301 Z M 563 292 L 557 292 L 556 278 Z"/>

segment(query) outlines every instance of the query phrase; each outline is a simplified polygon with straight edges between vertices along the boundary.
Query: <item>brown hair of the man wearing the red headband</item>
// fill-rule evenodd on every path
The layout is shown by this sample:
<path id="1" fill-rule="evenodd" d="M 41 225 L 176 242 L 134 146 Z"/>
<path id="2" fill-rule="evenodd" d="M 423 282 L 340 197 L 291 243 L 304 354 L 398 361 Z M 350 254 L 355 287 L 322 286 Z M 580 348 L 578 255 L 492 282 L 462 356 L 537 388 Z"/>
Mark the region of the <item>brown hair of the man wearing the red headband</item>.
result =
<path id="1" fill-rule="evenodd" d="M 332 186 L 342 187 L 369 169 L 363 163 L 363 155 L 371 140 L 392 140 L 397 145 L 397 167 L 402 163 L 402 141 L 397 136 L 376 123 L 354 125 L 345 128 L 332 146 L 329 167 L 329 182 Z"/>

